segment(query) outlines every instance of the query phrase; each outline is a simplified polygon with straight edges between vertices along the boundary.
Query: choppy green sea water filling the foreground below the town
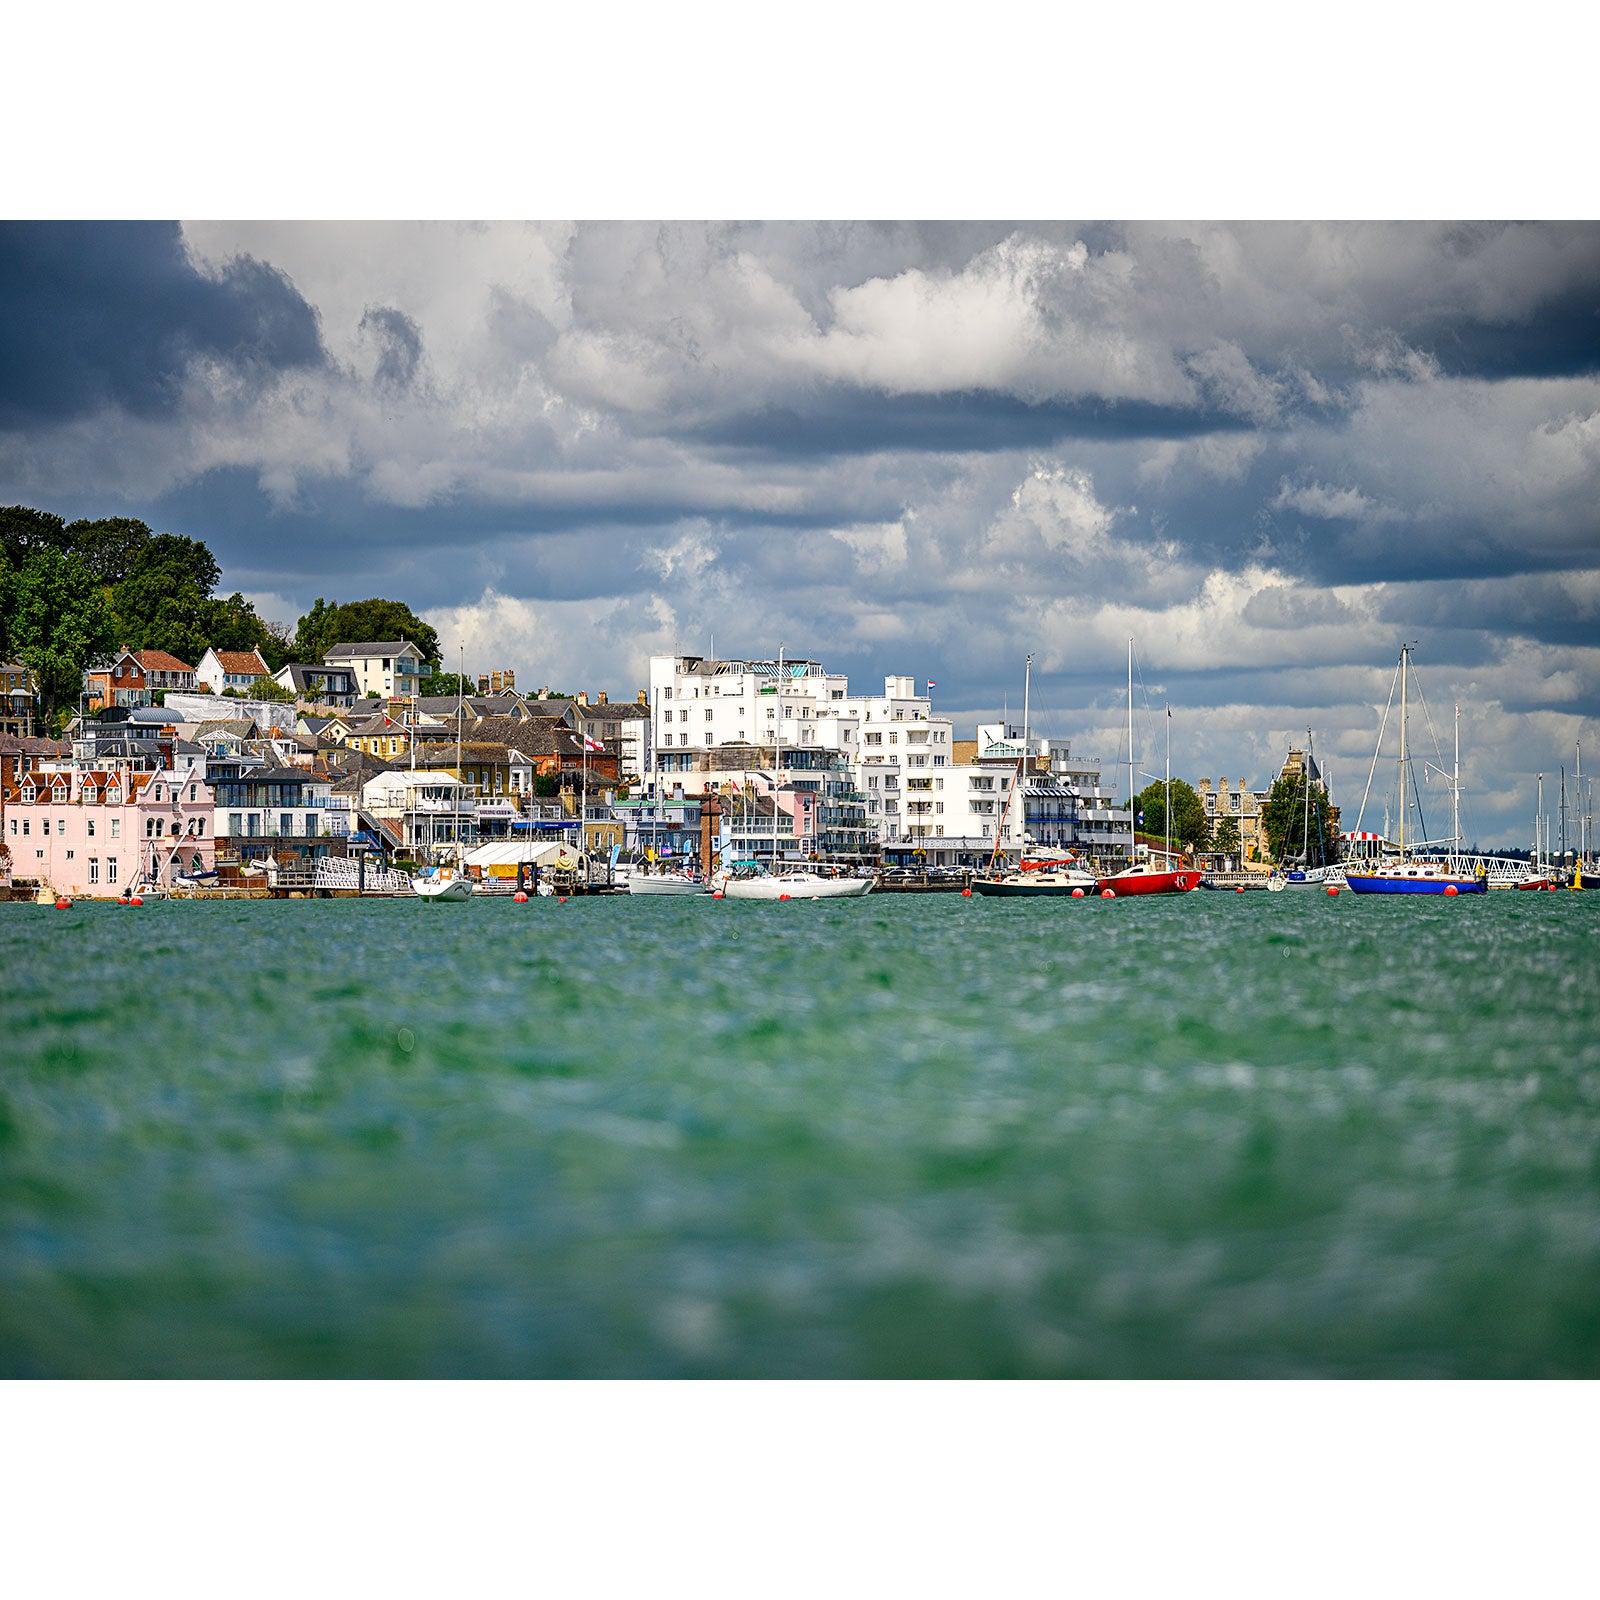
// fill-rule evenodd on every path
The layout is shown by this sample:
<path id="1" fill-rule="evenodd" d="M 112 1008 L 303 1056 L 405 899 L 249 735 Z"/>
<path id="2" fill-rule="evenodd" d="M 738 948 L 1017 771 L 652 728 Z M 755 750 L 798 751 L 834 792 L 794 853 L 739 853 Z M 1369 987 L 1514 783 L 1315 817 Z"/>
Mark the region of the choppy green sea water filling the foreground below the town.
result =
<path id="1" fill-rule="evenodd" d="M 0 1374 L 1600 1373 L 1600 894 L 0 906 Z"/>

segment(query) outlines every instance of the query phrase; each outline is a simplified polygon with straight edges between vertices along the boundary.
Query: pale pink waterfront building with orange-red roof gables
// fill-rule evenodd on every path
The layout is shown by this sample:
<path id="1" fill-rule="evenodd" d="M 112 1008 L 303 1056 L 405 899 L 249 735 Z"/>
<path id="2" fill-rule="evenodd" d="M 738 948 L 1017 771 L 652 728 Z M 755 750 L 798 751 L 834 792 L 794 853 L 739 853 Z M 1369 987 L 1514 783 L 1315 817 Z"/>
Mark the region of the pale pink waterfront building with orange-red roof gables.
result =
<path id="1" fill-rule="evenodd" d="M 211 789 L 190 771 L 26 773 L 5 795 L 11 875 L 115 899 L 214 866 Z"/>

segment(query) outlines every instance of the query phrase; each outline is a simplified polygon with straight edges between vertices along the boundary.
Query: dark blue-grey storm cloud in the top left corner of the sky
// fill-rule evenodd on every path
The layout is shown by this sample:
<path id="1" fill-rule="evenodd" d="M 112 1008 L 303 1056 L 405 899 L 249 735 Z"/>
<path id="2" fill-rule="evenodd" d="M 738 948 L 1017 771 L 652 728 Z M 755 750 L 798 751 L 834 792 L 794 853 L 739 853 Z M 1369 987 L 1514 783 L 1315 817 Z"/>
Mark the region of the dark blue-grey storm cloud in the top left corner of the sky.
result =
<path id="1" fill-rule="evenodd" d="M 0 426 L 171 413 L 195 357 L 315 366 L 317 314 L 250 256 L 202 275 L 173 222 L 0 224 Z"/>

